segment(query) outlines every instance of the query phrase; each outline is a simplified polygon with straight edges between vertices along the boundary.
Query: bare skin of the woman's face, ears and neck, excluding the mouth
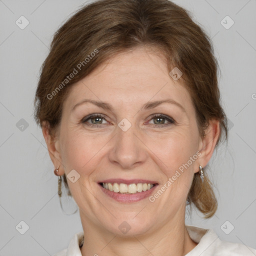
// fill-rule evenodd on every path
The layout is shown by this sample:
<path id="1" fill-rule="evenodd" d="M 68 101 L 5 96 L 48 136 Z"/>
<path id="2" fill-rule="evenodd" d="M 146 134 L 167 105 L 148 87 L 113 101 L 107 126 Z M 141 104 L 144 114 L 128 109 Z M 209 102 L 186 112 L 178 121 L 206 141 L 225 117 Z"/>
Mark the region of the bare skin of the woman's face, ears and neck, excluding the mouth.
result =
<path id="1" fill-rule="evenodd" d="M 108 102 L 113 111 L 91 103 L 72 111 L 85 98 Z M 170 103 L 142 109 L 144 103 L 167 98 L 185 111 Z M 104 117 L 88 119 L 85 123 L 94 125 L 88 127 L 81 120 L 91 113 Z M 161 113 L 174 123 L 151 117 Z M 123 118 L 131 123 L 126 131 L 118 127 Z M 46 125 L 42 132 L 55 168 L 60 164 L 59 174 L 75 169 L 80 175 L 74 183 L 67 181 L 79 207 L 83 256 L 181 256 L 196 246 L 185 228 L 185 203 L 198 165 L 205 166 L 213 153 L 219 121 L 211 120 L 200 137 L 188 91 L 181 79 L 168 74 L 164 57 L 155 49 L 134 48 L 98 66 L 71 88 L 56 137 L 49 135 Z M 161 187 L 196 151 L 200 156 L 154 202 L 148 197 L 117 202 L 97 184 L 107 178 L 143 178 Z M 131 227 L 125 234 L 118 228 L 123 221 Z"/>

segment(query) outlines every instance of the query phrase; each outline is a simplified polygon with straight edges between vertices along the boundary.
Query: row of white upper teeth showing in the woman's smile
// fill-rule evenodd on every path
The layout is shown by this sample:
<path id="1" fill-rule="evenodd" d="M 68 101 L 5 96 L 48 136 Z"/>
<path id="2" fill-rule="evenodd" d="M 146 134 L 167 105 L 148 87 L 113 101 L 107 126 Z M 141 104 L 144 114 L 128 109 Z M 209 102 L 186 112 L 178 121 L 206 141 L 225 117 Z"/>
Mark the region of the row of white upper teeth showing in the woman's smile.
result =
<path id="1" fill-rule="evenodd" d="M 153 187 L 153 184 L 149 183 L 132 183 L 132 184 L 124 184 L 124 183 L 102 183 L 103 187 L 109 191 L 114 191 L 116 193 L 136 193 L 149 190 Z"/>

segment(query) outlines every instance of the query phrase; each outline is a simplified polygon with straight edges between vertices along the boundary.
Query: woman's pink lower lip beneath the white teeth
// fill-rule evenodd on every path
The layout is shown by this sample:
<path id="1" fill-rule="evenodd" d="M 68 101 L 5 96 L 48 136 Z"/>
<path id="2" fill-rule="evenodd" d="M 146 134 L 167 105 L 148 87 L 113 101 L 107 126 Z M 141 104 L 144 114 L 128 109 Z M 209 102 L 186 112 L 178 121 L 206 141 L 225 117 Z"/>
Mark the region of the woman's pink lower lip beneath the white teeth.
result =
<path id="1" fill-rule="evenodd" d="M 134 194 L 122 194 L 110 191 L 102 187 L 100 184 L 98 185 L 106 195 L 110 196 L 111 198 L 115 199 L 118 202 L 136 202 L 142 200 L 148 197 L 154 191 L 155 187 L 157 187 L 157 185 L 154 185 L 151 189 L 146 191 L 136 192 Z"/>

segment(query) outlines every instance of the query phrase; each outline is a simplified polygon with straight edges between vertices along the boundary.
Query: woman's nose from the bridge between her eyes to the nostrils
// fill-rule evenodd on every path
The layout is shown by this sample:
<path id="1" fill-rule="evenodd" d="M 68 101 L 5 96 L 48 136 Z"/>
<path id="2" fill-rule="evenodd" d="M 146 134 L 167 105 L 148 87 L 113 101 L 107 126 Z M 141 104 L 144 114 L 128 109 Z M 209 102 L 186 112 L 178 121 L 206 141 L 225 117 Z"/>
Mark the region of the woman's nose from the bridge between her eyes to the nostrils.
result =
<path id="1" fill-rule="evenodd" d="M 132 120 L 134 121 L 135 118 Z M 123 118 L 119 121 L 116 132 L 113 149 L 109 155 L 110 160 L 127 169 L 132 168 L 134 163 L 143 162 L 146 152 L 137 137 L 139 133 L 137 125 Z"/>

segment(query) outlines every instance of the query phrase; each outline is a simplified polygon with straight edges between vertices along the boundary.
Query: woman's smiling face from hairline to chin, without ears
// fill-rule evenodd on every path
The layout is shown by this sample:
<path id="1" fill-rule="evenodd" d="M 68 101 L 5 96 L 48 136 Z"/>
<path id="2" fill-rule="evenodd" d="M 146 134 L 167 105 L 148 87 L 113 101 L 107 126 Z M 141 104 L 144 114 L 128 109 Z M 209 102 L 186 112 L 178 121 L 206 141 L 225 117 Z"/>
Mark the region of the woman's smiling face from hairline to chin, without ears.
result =
<path id="1" fill-rule="evenodd" d="M 202 141 L 191 97 L 163 59 L 148 48 L 117 54 L 64 101 L 54 153 L 62 174 L 73 171 L 81 219 L 102 231 L 137 235 L 184 221 Z"/>

